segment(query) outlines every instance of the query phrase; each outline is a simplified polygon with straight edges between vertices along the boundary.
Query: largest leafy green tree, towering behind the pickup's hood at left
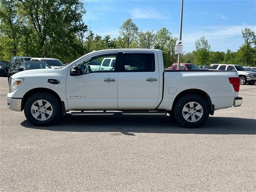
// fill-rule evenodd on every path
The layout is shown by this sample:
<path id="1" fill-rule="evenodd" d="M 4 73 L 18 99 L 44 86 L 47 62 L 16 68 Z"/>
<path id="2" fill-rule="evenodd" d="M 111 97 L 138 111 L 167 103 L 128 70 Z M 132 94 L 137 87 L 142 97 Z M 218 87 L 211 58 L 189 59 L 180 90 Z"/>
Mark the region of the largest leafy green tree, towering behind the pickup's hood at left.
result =
<path id="1" fill-rule="evenodd" d="M 74 34 L 79 34 L 79 30 L 82 32 L 87 30 L 87 26 L 82 24 L 85 10 L 81 1 L 18 0 L 18 2 L 28 21 L 27 27 L 33 28 L 33 33 L 36 34 L 37 46 L 34 47 L 36 55 L 49 56 L 50 52 L 54 52 L 52 47 L 56 48 L 56 43 L 65 43 L 66 49 L 70 46 L 79 46 Z M 69 40 L 64 42 L 66 39 Z M 67 44 L 68 42 L 70 44 Z M 76 43 L 73 44 L 74 42 Z"/>

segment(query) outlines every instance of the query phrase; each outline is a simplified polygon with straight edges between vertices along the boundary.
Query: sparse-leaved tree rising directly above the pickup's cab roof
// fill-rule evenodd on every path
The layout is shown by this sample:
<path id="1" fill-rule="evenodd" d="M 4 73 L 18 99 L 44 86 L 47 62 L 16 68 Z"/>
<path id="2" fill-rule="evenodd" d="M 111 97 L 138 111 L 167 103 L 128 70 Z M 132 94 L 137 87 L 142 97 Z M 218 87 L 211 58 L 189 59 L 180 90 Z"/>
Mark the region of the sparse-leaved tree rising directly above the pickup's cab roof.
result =
<path id="1" fill-rule="evenodd" d="M 139 28 L 132 22 L 129 18 L 126 20 L 122 26 L 120 26 L 120 38 L 123 41 L 122 48 L 131 48 L 131 45 L 134 41 L 135 36 L 138 34 Z"/>

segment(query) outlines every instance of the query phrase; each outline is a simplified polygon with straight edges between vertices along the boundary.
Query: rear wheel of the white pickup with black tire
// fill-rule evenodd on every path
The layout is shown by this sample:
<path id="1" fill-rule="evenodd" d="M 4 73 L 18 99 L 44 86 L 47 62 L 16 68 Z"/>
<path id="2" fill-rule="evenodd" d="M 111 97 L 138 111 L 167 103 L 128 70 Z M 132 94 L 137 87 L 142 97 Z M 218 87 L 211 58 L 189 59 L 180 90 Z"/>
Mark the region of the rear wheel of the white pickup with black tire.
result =
<path id="1" fill-rule="evenodd" d="M 193 104 L 192 108 L 189 102 Z M 197 107 L 200 109 L 196 110 Z M 185 112 L 183 108 L 189 111 Z M 209 109 L 209 104 L 204 98 L 199 95 L 189 94 L 180 98 L 174 106 L 174 118 L 183 127 L 198 128 L 208 119 Z"/>

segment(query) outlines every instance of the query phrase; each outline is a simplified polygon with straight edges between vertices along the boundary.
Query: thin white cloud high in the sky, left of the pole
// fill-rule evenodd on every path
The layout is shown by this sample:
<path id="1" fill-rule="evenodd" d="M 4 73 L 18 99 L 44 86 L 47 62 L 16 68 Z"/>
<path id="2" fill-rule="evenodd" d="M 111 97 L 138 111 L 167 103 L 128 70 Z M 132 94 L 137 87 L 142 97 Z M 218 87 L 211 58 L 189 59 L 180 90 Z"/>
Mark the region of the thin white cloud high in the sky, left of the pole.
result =
<path id="1" fill-rule="evenodd" d="M 166 16 L 154 9 L 133 8 L 128 13 L 133 19 L 166 19 Z"/>

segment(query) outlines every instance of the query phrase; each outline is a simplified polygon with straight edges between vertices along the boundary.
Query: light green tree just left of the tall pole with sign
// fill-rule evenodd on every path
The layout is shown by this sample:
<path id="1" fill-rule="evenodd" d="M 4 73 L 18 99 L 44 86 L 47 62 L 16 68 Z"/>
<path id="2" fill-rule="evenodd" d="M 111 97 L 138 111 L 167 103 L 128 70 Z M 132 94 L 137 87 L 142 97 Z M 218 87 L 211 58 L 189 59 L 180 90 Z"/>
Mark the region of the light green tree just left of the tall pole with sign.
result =
<path id="1" fill-rule="evenodd" d="M 172 33 L 166 29 L 161 28 L 156 32 L 154 40 L 154 48 L 163 51 L 164 67 L 172 66 L 176 62 L 177 54 L 175 54 L 175 43 L 178 38 L 174 38 Z"/>

